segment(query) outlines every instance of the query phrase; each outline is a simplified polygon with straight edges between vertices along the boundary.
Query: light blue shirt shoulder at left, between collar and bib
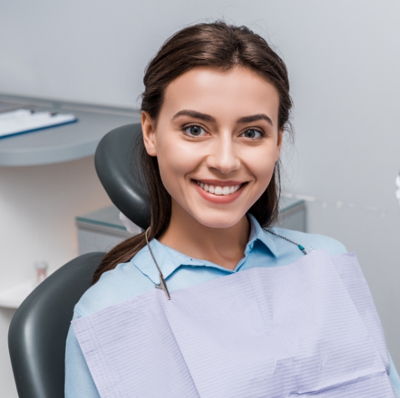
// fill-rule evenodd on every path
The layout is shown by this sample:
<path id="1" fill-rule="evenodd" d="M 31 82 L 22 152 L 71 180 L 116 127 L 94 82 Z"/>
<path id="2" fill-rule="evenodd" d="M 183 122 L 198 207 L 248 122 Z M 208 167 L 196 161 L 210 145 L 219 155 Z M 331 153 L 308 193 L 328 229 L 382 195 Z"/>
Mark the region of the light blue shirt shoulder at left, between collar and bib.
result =
<path id="1" fill-rule="evenodd" d="M 154 288 L 154 283 L 129 261 L 104 272 L 74 308 L 74 317 L 83 317 L 131 299 Z"/>

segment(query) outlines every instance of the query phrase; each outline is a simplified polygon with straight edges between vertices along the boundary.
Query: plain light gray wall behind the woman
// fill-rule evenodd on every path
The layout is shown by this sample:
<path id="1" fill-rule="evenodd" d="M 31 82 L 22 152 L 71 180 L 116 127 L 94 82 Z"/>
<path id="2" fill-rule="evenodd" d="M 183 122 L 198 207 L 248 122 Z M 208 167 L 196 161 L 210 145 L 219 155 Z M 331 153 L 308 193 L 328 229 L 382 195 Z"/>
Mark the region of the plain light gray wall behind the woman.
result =
<path id="1" fill-rule="evenodd" d="M 269 37 L 295 103 L 287 190 L 314 198 L 310 232 L 358 252 L 399 368 L 399 15 L 394 0 L 3 0 L 0 92 L 136 107 L 178 28 L 225 17 Z"/>

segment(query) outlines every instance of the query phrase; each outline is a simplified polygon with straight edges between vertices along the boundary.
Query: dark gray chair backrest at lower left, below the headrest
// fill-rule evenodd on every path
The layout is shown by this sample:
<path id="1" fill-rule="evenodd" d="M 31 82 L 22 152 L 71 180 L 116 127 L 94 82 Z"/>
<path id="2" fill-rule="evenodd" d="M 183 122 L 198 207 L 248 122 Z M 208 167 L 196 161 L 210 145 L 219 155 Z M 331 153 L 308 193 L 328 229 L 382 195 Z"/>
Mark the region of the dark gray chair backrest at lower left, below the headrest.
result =
<path id="1" fill-rule="evenodd" d="M 19 398 L 63 398 L 65 341 L 75 304 L 104 253 L 83 254 L 40 283 L 19 306 L 8 347 Z"/>

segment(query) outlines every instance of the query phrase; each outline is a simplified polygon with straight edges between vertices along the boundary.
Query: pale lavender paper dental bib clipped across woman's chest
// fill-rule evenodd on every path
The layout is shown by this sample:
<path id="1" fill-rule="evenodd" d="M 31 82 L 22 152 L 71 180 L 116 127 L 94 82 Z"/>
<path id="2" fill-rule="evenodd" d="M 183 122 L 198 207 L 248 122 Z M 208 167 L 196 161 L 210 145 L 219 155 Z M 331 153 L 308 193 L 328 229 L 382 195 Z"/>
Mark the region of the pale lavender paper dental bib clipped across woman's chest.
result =
<path id="1" fill-rule="evenodd" d="M 102 398 L 394 398 L 357 259 L 308 254 L 72 322 Z"/>

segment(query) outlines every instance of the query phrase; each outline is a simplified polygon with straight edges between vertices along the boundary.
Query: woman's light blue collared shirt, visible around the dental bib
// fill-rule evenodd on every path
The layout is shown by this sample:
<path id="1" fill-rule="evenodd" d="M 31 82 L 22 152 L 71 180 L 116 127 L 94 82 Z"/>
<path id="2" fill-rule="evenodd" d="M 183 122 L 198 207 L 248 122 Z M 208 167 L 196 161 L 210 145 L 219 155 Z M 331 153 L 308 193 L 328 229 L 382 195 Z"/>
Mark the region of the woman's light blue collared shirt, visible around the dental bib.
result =
<path id="1" fill-rule="evenodd" d="M 289 265 L 304 256 L 295 244 L 264 231 L 252 215 L 248 215 L 248 218 L 251 226 L 250 237 L 244 256 L 233 271 L 207 260 L 191 258 L 161 244 L 158 240 L 152 240 L 150 245 L 166 280 L 168 290 L 173 292 L 189 288 L 253 267 Z M 315 250 L 326 249 L 330 256 L 346 253 L 343 244 L 323 235 L 278 228 L 272 231 L 303 245 L 307 251 L 313 247 Z M 81 297 L 75 306 L 73 319 L 148 292 L 154 289 L 154 284 L 159 282 L 157 267 L 147 247 L 144 247 L 128 263 L 120 264 L 114 270 L 102 274 L 100 280 Z M 392 358 L 390 358 L 390 381 L 400 397 L 400 378 L 392 363 Z M 83 397 L 99 398 L 99 393 L 71 327 L 65 351 L 65 398 Z"/>

